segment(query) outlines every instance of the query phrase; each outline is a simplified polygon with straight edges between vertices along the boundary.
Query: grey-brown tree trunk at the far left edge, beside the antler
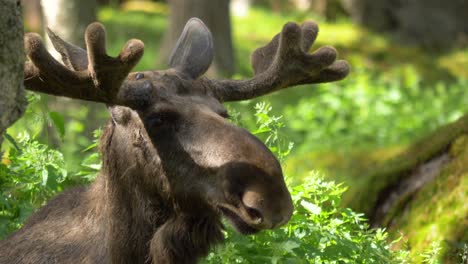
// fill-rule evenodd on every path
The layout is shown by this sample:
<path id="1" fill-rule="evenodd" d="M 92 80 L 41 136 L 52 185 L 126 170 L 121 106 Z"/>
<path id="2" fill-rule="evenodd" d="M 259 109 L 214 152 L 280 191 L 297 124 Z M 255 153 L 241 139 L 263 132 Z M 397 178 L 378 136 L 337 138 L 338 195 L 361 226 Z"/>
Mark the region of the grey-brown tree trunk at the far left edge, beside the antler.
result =
<path id="1" fill-rule="evenodd" d="M 19 0 L 0 0 L 0 146 L 3 133 L 26 108 L 23 21 Z M 0 155 L 1 156 L 1 155 Z"/>

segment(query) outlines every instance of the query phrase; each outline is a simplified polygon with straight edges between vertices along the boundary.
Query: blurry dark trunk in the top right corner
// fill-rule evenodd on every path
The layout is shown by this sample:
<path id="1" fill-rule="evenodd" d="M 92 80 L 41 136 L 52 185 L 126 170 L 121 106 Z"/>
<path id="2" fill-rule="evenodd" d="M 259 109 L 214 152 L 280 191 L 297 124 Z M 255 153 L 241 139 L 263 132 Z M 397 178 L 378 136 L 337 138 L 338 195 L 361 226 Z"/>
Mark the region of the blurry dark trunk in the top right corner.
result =
<path id="1" fill-rule="evenodd" d="M 468 1 L 342 0 L 353 19 L 429 49 L 466 44 Z"/>

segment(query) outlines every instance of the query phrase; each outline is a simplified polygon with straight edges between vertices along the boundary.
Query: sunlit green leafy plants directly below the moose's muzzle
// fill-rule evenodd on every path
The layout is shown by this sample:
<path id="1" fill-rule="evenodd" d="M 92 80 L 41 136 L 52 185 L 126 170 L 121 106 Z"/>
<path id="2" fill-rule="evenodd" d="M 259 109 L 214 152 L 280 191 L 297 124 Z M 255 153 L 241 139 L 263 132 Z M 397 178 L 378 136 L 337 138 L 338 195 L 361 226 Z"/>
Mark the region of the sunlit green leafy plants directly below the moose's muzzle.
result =
<path id="1" fill-rule="evenodd" d="M 228 228 L 225 245 L 205 262 L 391 263 L 403 256 L 390 250 L 384 230 L 369 230 L 363 214 L 339 206 L 341 184 L 313 172 L 290 190 L 295 212 L 286 226 L 253 236 Z"/>

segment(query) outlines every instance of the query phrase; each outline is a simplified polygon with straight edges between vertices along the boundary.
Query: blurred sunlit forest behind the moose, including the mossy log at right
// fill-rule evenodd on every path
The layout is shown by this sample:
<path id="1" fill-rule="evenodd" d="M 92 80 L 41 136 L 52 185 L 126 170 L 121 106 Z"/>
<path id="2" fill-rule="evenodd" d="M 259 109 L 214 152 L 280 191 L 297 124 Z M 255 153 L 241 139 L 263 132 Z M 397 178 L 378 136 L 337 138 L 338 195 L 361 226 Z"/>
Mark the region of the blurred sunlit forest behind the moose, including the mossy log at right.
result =
<path id="1" fill-rule="evenodd" d="M 86 26 L 100 21 L 112 55 L 130 38 L 143 40 L 136 71 L 165 69 L 185 22 L 199 17 L 214 36 L 212 78 L 251 77 L 250 54 L 283 24 L 317 22 L 312 50 L 334 46 L 351 64 L 350 75 L 230 103 L 234 121 L 261 138 L 265 129 L 274 132 L 268 135 L 277 137 L 276 154 L 292 181 L 319 170 L 344 182 L 343 206 L 366 213 L 392 238 L 402 236 L 396 247 L 417 251 L 440 240 L 444 261 L 468 252 L 467 1 L 21 2 L 28 32 L 49 27 L 84 46 Z M 59 150 L 69 174 L 99 168 L 95 146 L 108 119 L 105 106 L 33 93 L 28 100 L 27 113 L 8 130 L 10 143 L 28 137 Z"/>

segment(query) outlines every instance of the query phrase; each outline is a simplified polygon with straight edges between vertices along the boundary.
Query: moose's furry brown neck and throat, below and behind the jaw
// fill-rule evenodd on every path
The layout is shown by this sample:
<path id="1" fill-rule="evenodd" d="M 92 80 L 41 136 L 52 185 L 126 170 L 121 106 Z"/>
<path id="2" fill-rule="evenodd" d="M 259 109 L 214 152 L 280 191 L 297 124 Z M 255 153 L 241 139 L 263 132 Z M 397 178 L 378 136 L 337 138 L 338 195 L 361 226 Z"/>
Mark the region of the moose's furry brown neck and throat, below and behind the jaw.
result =
<path id="1" fill-rule="evenodd" d="M 106 204 L 109 256 L 117 262 L 196 263 L 223 240 L 219 216 L 196 198 L 186 208 L 176 194 L 184 184 L 173 182 L 180 177 L 166 173 L 161 160 L 167 157 L 160 157 L 132 115 L 133 124 L 110 122 L 101 138 L 96 184 Z"/>

